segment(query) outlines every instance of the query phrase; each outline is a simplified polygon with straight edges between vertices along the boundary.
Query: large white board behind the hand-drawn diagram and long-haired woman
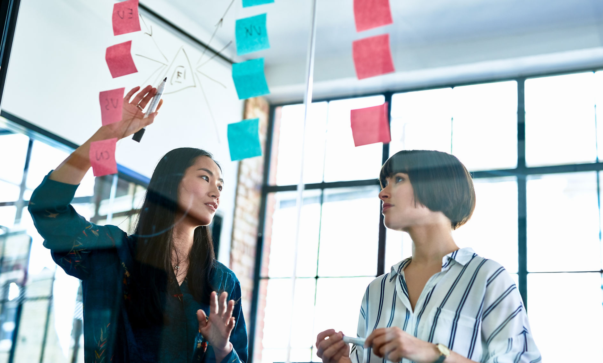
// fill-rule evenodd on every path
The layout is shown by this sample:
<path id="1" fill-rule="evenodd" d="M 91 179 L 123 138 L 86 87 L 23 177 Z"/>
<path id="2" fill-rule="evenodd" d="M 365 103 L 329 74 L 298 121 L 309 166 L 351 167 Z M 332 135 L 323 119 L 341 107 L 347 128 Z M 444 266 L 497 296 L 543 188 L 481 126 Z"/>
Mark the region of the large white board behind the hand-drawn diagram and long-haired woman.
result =
<path id="1" fill-rule="evenodd" d="M 150 178 L 157 161 L 171 149 L 188 146 L 212 152 L 225 180 L 220 206 L 225 243 L 221 244 L 230 246 L 238 163 L 230 161 L 226 131 L 227 124 L 241 120 L 243 112 L 230 64 L 219 57 L 209 60 L 210 52 L 199 63 L 203 50 L 199 45 L 142 11 L 142 31 L 113 36 L 114 3 L 22 0 L 1 107 L 81 144 L 101 126 L 100 91 L 156 86 L 168 76 L 172 82 L 156 121 L 140 143 L 120 140 L 116 160 Z M 128 40 L 138 72 L 114 79 L 105 61 L 106 48 Z M 201 74 L 196 65 L 205 61 Z M 173 82 L 174 71 L 185 72 L 185 78 Z M 224 250 L 221 261 L 228 258 Z"/>

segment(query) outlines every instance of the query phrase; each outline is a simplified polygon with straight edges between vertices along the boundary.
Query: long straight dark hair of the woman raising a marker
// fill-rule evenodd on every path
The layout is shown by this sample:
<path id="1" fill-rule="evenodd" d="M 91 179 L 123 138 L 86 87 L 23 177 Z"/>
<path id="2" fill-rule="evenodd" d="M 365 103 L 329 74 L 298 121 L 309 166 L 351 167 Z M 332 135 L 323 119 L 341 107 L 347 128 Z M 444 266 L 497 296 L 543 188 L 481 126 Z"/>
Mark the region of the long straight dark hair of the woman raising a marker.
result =
<path id="1" fill-rule="evenodd" d="M 201 149 L 180 147 L 171 150 L 161 158 L 151 181 L 136 221 L 133 237 L 136 243 L 134 271 L 131 272 L 133 284 L 131 291 L 130 313 L 133 320 L 147 324 L 163 318 L 162 307 L 168 284 L 177 283 L 168 278 L 172 271 L 171 256 L 174 250 L 172 231 L 177 223 L 178 186 L 197 158 L 213 155 Z M 213 160 L 214 163 L 221 167 Z M 188 256 L 188 287 L 195 300 L 209 304 L 213 291 L 210 283 L 215 266 L 215 252 L 210 229 L 199 226 L 195 229 L 191 252 Z M 128 291 L 128 292 L 130 292 Z"/>

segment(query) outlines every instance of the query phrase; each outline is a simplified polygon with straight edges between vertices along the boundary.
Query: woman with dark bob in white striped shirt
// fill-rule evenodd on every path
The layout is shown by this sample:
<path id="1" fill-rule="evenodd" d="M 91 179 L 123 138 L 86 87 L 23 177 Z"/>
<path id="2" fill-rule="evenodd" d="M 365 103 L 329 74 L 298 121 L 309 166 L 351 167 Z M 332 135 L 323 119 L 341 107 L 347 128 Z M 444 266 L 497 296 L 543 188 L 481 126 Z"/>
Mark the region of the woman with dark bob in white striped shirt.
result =
<path id="1" fill-rule="evenodd" d="M 452 238 L 475 208 L 463 164 L 445 152 L 403 150 L 379 182 L 385 226 L 410 235 L 412 257 L 368 285 L 358 318 L 364 346 L 350 350 L 333 329 L 318 334 L 323 362 L 540 362 L 507 270 Z"/>

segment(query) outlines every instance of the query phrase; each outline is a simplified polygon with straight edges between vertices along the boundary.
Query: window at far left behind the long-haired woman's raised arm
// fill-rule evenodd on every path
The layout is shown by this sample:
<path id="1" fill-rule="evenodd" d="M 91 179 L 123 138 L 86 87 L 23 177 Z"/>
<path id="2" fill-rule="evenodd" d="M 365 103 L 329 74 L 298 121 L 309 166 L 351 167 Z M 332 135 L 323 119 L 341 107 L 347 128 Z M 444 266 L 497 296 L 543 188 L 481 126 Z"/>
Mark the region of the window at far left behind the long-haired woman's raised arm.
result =
<path id="1" fill-rule="evenodd" d="M 83 362 L 80 281 L 57 268 L 27 211 L 33 190 L 72 149 L 41 135 L 21 134 L 6 119 L 0 122 L 5 127 L 0 128 L 0 152 L 11 155 L 0 160 L 0 246 L 10 246 L 0 249 L 0 362 L 8 361 L 14 329 L 14 362 Z M 87 220 L 128 231 L 145 190 L 142 182 L 118 175 L 95 178 L 90 170 L 72 206 Z"/>

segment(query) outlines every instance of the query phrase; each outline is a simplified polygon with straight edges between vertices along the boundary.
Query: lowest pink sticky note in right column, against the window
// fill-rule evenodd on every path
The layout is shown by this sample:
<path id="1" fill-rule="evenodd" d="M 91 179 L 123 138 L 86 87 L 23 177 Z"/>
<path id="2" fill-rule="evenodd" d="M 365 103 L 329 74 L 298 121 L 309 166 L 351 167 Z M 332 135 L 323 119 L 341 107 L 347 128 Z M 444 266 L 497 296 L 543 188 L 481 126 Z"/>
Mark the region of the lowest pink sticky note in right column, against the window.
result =
<path id="1" fill-rule="evenodd" d="M 352 136 L 355 146 L 391 141 L 387 102 L 379 106 L 352 110 L 350 118 L 352 119 Z"/>

